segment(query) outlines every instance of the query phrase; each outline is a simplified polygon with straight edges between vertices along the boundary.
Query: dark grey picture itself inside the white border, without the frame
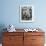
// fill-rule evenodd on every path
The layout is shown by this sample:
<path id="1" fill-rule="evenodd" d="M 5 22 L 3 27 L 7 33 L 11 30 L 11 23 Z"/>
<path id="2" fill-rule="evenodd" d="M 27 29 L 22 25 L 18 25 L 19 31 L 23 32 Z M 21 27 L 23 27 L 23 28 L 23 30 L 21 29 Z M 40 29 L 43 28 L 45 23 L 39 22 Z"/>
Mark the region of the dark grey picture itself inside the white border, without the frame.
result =
<path id="1" fill-rule="evenodd" d="M 29 8 L 22 9 L 22 20 L 30 20 L 32 19 L 32 10 Z"/>

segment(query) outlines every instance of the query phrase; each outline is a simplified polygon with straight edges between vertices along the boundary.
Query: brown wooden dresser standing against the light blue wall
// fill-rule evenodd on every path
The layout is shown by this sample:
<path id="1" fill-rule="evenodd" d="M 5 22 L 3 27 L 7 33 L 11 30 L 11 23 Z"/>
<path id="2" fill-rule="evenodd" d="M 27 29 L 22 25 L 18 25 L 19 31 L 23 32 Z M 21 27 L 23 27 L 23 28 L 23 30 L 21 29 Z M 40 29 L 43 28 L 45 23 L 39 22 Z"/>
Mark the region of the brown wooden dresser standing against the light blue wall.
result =
<path id="1" fill-rule="evenodd" d="M 44 46 L 44 32 L 3 32 L 3 46 Z"/>

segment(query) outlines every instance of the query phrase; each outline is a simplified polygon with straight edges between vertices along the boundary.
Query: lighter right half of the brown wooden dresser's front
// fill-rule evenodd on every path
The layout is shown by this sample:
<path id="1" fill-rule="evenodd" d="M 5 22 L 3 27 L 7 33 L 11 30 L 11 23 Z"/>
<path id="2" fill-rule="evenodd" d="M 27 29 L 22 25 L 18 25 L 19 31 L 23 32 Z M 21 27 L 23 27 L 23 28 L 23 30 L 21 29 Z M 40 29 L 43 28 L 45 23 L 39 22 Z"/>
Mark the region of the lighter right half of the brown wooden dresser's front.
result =
<path id="1" fill-rule="evenodd" d="M 44 46 L 44 33 L 24 33 L 24 46 Z"/>

